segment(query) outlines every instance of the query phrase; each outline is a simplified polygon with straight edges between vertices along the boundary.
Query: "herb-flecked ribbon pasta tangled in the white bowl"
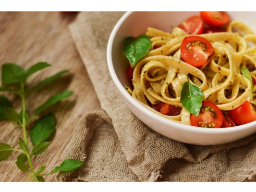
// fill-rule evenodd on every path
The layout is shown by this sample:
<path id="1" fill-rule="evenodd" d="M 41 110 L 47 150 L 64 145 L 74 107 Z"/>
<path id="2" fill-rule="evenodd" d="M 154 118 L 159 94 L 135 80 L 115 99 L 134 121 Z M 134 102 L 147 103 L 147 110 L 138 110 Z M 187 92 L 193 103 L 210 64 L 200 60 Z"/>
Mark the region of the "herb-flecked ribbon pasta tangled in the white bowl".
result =
<path id="1" fill-rule="evenodd" d="M 256 86 L 252 89 L 241 72 L 241 66 L 245 66 L 253 78 L 256 76 L 256 34 L 245 24 L 232 21 L 227 32 L 198 35 L 213 47 L 213 54 L 200 68 L 181 59 L 182 41 L 189 36 L 182 29 L 175 27 L 172 33 L 167 33 L 148 27 L 146 35 L 151 37 L 151 49 L 135 65 L 134 89 L 128 88 L 146 108 L 190 124 L 190 112 L 181 103 L 181 90 L 188 80 L 202 90 L 204 101 L 215 103 L 223 111 L 232 110 L 246 100 L 256 105 Z M 179 107 L 181 112 L 175 116 L 163 115 L 150 107 L 158 102 Z"/>

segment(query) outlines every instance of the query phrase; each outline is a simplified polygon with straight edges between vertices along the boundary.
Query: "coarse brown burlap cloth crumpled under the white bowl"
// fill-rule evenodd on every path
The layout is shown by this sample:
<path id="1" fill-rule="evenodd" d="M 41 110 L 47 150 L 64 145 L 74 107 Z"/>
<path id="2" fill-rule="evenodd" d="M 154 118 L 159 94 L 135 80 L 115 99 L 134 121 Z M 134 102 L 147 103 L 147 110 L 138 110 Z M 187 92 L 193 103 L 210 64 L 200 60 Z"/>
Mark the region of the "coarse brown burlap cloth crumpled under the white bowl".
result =
<path id="1" fill-rule="evenodd" d="M 256 134 L 222 145 L 183 144 L 154 132 L 125 106 L 106 61 L 110 32 L 122 14 L 80 12 L 70 26 L 103 110 L 81 118 L 63 156 L 87 164 L 57 180 L 255 181 Z"/>

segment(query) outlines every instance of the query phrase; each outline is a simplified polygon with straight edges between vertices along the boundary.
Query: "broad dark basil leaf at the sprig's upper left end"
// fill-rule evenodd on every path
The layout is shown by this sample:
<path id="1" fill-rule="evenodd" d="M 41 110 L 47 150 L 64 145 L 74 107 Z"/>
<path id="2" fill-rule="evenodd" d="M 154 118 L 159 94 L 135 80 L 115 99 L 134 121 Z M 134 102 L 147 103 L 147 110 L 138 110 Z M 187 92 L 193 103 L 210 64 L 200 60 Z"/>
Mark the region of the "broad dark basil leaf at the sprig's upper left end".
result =
<path id="1" fill-rule="evenodd" d="M 20 84 L 25 79 L 25 72 L 20 66 L 14 63 L 2 65 L 2 84 Z"/>

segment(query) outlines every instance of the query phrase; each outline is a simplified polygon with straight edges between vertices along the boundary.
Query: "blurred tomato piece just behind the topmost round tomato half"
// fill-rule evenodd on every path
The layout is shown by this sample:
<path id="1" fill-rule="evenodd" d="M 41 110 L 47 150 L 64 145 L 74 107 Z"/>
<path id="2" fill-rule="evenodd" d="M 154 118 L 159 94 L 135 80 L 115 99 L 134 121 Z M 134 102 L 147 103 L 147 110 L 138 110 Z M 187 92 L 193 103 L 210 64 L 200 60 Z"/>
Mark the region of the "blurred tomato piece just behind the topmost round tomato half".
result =
<path id="1" fill-rule="evenodd" d="M 199 35 L 203 32 L 204 23 L 199 16 L 195 15 L 183 21 L 178 27 L 183 29 L 187 34 Z"/>

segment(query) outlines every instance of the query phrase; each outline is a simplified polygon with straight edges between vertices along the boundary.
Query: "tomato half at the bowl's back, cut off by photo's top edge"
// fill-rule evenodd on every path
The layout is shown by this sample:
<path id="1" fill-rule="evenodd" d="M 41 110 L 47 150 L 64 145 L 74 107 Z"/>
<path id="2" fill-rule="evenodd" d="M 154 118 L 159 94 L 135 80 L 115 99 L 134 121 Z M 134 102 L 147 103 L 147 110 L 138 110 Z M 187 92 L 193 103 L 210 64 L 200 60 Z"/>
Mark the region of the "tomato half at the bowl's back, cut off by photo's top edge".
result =
<path id="1" fill-rule="evenodd" d="M 200 12 L 203 22 L 209 26 L 221 26 L 230 22 L 226 12 Z"/>

